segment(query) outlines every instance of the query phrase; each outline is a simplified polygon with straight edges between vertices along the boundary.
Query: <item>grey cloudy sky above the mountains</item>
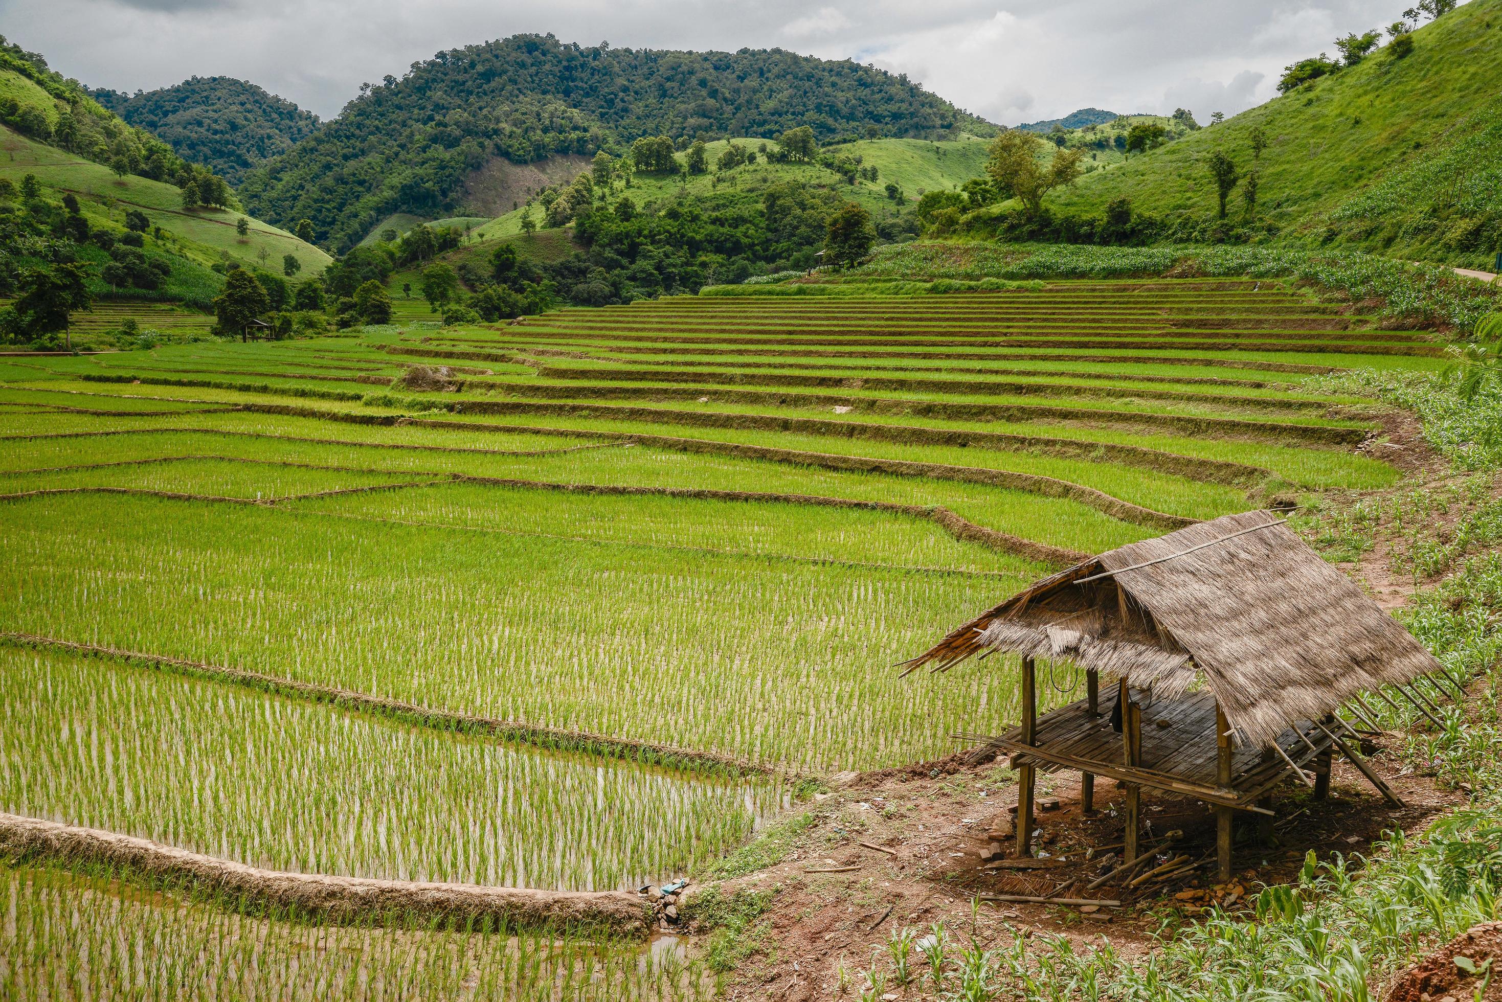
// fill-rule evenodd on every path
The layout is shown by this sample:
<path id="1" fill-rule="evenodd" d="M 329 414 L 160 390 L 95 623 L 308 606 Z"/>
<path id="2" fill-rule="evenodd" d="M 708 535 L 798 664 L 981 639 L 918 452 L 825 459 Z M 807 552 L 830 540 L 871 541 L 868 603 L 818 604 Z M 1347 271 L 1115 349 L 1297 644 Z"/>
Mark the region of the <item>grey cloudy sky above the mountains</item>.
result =
<path id="1" fill-rule="evenodd" d="M 616 47 L 856 59 L 993 122 L 1080 107 L 1202 122 L 1412 0 L 0 0 L 0 33 L 93 87 L 251 80 L 321 117 L 362 81 L 518 32 Z"/>

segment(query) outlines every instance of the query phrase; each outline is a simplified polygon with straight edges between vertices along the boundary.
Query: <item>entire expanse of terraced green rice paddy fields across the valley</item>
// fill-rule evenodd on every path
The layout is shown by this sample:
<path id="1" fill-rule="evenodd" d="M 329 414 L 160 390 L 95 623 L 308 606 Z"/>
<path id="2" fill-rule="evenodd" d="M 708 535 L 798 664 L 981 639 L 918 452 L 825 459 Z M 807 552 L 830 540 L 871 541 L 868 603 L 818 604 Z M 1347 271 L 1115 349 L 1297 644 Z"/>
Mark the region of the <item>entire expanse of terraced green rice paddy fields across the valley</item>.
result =
<path id="1" fill-rule="evenodd" d="M 398 320 L 0 359 L 0 810 L 276 870 L 694 873 L 804 777 L 1011 724 L 1005 672 L 892 665 L 1026 581 L 1392 484 L 1364 448 L 1376 415 L 1322 377 L 1443 365 L 1424 332 L 1266 281 Z M 1063 700 L 1077 679 L 1048 682 Z M 306 696 L 327 690 L 434 718 Z M 547 739 L 434 723 L 455 715 Z M 0 880 L 0 915 L 18 903 L 38 939 L 15 984 L 41 984 L 47 951 L 129 949 L 143 921 L 194 976 L 254 963 L 195 952 L 251 921 L 200 904 L 140 919 L 47 870 Z M 252 939 L 299 949 L 272 925 Z M 520 940 L 382 936 L 360 949 L 518 985 L 529 963 Z M 135 997 L 129 963 L 89 967 L 122 981 L 86 994 Z M 323 997 L 317 976 L 278 984 Z"/>

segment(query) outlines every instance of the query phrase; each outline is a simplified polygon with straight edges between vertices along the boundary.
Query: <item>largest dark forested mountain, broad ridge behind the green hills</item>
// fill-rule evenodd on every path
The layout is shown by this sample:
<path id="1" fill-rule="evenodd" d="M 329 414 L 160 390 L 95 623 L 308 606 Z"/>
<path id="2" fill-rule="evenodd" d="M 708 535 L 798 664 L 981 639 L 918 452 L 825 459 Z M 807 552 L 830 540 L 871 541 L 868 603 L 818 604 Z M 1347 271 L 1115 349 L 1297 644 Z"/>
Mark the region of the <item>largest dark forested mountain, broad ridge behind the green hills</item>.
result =
<path id="1" fill-rule="evenodd" d="M 994 126 L 906 77 L 783 50 L 680 53 L 580 47 L 551 35 L 439 53 L 386 77 L 293 150 L 251 171 L 240 195 L 281 222 L 311 219 L 351 246 L 392 212 L 443 215 L 464 176 L 493 156 L 623 149 L 673 140 L 838 135 L 937 138 Z"/>

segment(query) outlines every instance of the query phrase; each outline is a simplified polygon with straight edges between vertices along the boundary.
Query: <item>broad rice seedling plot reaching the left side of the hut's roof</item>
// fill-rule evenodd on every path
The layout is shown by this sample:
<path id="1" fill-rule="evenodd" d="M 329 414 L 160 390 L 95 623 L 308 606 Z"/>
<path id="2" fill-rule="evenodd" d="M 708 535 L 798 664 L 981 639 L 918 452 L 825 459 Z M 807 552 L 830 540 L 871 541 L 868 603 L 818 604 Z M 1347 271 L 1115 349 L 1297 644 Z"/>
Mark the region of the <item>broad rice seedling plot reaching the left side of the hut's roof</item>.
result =
<path id="1" fill-rule="evenodd" d="M 990 673 L 895 685 L 886 665 L 1020 578 L 134 496 L 3 517 L 0 622 L 32 634 L 810 769 L 933 757 L 1015 717 Z"/>

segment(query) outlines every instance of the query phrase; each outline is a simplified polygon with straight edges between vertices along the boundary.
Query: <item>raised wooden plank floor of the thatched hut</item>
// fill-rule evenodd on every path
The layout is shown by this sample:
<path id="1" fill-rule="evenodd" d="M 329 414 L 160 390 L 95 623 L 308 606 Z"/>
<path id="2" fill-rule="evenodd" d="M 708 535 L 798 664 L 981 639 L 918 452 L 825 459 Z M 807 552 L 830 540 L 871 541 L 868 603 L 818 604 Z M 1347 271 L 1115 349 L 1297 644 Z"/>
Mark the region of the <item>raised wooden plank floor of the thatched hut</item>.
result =
<path id="1" fill-rule="evenodd" d="M 1084 700 L 1060 706 L 1039 717 L 1036 729 L 1038 766 L 1045 771 L 1080 768 L 1080 763 L 1123 769 L 1125 750 L 1122 736 L 1111 730 L 1114 694 L 1101 694 L 1101 714 L 1092 715 Z M 1329 741 L 1304 724 L 1316 750 L 1323 750 Z M 1005 735 L 1008 745 L 1021 742 L 1021 729 Z M 1290 759 L 1305 763 L 1314 757 L 1314 750 L 1292 729 L 1278 738 L 1278 745 Z M 1175 778 L 1205 787 L 1215 787 L 1215 697 L 1208 691 L 1191 693 L 1184 699 L 1158 700 L 1142 706 L 1142 768 L 1167 774 Z M 1287 766 L 1274 753 L 1260 748 L 1236 748 L 1232 757 L 1232 787 L 1241 796 L 1260 792 Z M 1146 786 L 1154 786 L 1145 780 Z"/>

